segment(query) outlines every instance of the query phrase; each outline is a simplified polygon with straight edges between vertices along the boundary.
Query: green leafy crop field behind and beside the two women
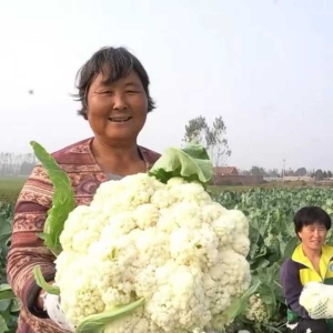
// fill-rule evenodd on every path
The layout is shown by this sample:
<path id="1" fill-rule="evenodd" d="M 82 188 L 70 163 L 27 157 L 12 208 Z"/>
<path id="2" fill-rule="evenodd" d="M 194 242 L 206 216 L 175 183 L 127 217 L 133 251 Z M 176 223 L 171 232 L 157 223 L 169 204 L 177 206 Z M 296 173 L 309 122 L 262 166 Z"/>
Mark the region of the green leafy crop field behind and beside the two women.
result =
<path id="1" fill-rule="evenodd" d="M 320 205 L 333 218 L 333 189 L 253 189 L 243 193 L 223 191 L 215 196 L 223 206 L 243 211 L 250 220 L 251 248 L 249 261 L 253 285 L 265 314 L 252 320 L 246 309 L 230 332 L 248 329 L 251 332 L 285 332 L 285 304 L 280 284 L 280 266 L 297 243 L 293 230 L 293 215 L 304 205 Z M 6 258 L 10 241 L 12 205 L 0 203 L 0 333 L 16 332 L 18 302 L 7 284 Z M 327 242 L 333 244 L 333 234 Z M 255 317 L 255 315 L 254 315 Z"/>

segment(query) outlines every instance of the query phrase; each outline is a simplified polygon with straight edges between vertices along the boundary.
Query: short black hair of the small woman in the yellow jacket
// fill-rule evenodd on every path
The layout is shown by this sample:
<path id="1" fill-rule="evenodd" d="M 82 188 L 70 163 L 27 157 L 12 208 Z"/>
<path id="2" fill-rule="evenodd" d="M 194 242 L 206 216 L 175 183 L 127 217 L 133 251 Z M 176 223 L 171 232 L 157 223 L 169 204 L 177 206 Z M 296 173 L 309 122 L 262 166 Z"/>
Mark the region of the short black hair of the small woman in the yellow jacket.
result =
<path id="1" fill-rule="evenodd" d="M 331 229 L 331 218 L 330 215 L 320 206 L 310 205 L 300 209 L 294 215 L 295 232 L 299 233 L 304 225 L 311 225 L 313 223 L 320 223 L 326 228 Z"/>

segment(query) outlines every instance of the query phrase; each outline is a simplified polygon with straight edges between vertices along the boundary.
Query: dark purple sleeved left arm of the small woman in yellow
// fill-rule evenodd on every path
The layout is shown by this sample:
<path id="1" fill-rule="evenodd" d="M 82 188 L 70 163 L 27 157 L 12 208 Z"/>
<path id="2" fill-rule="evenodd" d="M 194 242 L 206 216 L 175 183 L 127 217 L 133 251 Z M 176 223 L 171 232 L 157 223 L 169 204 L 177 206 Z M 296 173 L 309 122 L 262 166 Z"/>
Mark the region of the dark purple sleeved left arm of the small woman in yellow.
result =
<path id="1" fill-rule="evenodd" d="M 281 268 L 281 282 L 286 305 L 303 319 L 310 319 L 307 311 L 300 304 L 303 285 L 297 263 L 287 260 Z"/>

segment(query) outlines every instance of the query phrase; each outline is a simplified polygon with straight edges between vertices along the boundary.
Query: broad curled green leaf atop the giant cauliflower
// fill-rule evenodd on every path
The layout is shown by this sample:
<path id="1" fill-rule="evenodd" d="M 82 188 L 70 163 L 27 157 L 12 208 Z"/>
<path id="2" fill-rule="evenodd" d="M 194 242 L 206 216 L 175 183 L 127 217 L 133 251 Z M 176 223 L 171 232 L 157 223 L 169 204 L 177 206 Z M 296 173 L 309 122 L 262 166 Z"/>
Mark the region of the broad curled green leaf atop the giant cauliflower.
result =
<path id="1" fill-rule="evenodd" d="M 182 150 L 168 148 L 149 174 L 163 183 L 171 178 L 181 176 L 186 181 L 206 184 L 213 176 L 213 165 L 202 145 L 190 143 Z"/>

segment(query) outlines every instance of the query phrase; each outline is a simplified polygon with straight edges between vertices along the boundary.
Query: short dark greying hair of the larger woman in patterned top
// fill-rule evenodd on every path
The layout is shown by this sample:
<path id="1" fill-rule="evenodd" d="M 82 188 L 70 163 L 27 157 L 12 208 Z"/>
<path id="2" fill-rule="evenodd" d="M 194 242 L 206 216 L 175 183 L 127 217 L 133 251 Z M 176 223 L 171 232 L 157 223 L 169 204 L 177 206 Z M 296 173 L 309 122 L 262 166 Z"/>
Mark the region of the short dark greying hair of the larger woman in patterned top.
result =
<path id="1" fill-rule="evenodd" d="M 149 93 L 149 75 L 142 63 L 137 57 L 125 48 L 101 48 L 80 68 L 77 73 L 78 94 L 74 94 L 77 101 L 81 102 L 82 108 L 78 111 L 79 115 L 87 118 L 87 95 L 93 80 L 102 73 L 107 77 L 107 82 L 115 82 L 127 77 L 131 71 L 135 71 L 140 78 L 148 99 L 148 112 L 155 109 L 153 99 Z"/>

